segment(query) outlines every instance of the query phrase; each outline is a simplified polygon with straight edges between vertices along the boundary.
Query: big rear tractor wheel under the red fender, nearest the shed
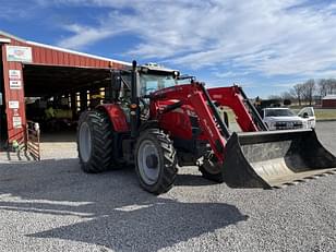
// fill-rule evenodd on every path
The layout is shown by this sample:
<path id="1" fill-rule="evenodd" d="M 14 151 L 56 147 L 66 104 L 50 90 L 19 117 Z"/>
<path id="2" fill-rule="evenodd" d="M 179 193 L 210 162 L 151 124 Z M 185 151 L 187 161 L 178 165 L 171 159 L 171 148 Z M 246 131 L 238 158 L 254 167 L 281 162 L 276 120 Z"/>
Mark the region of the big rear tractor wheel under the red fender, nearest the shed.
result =
<path id="1" fill-rule="evenodd" d="M 86 111 L 79 121 L 77 152 L 81 168 L 97 173 L 117 168 L 113 161 L 113 130 L 103 111 Z"/>

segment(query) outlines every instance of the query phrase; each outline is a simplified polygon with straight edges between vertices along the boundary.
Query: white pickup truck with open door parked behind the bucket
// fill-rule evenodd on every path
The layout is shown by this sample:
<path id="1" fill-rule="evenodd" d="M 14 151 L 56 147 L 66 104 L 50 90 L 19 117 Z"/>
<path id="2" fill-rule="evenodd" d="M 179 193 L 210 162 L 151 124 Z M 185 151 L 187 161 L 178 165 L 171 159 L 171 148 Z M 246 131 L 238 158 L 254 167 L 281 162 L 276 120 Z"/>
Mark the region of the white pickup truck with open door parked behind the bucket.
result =
<path id="1" fill-rule="evenodd" d="M 316 119 L 312 107 L 305 107 L 296 115 L 289 108 L 265 108 L 263 121 L 269 130 L 296 130 L 315 128 Z"/>

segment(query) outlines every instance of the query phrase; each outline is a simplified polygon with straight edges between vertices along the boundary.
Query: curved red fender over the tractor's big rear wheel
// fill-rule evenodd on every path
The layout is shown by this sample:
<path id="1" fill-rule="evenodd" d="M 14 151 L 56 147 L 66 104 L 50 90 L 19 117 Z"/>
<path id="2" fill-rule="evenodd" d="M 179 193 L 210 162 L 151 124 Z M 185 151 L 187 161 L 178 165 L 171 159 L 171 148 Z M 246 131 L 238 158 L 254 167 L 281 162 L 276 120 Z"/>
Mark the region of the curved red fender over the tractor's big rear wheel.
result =
<path id="1" fill-rule="evenodd" d="M 130 127 L 127 122 L 127 117 L 119 105 L 104 104 L 104 105 L 99 105 L 97 109 L 105 111 L 109 116 L 112 122 L 112 125 L 113 125 L 113 130 L 116 132 L 130 131 Z"/>

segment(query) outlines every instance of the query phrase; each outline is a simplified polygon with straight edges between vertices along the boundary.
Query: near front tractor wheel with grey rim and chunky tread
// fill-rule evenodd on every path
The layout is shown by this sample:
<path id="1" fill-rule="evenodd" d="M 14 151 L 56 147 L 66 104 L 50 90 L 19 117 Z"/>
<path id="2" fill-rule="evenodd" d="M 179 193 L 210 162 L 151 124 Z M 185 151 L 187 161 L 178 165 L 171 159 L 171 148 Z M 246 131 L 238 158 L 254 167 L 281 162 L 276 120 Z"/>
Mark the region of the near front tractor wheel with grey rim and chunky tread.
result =
<path id="1" fill-rule="evenodd" d="M 135 170 L 146 191 L 160 194 L 171 189 L 177 176 L 177 155 L 168 135 L 158 129 L 141 133 L 135 146 Z"/>

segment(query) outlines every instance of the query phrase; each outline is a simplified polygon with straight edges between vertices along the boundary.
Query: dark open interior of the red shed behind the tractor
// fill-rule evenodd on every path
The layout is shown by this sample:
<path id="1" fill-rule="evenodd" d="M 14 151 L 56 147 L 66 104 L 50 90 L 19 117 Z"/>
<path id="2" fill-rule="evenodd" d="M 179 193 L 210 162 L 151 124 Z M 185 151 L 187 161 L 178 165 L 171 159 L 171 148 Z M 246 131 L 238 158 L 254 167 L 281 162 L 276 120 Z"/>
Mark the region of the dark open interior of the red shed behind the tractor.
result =
<path id="1" fill-rule="evenodd" d="M 82 111 L 103 104 L 110 69 L 25 64 L 26 118 L 38 122 L 40 142 L 73 142 Z"/>

